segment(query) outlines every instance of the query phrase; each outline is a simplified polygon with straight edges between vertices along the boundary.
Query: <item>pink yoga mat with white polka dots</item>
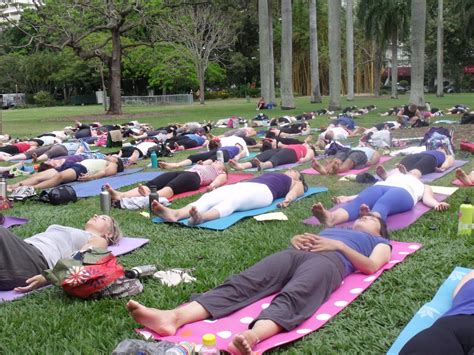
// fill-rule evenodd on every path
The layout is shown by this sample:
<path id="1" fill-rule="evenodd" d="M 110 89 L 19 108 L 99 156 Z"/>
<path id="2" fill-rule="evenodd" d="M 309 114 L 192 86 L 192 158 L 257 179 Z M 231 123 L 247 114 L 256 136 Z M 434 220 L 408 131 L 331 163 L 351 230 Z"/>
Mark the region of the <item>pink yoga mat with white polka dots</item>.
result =
<path id="1" fill-rule="evenodd" d="M 279 333 L 271 338 L 268 338 L 253 349 L 257 354 L 261 354 L 271 348 L 292 342 L 302 338 L 323 325 L 325 325 L 332 317 L 342 311 L 354 299 L 356 299 L 364 290 L 366 290 L 384 270 L 391 269 L 396 264 L 404 261 L 404 259 L 417 251 L 421 244 L 418 243 L 402 243 L 390 242 L 393 246 L 392 258 L 379 271 L 372 275 L 364 275 L 355 273 L 347 276 L 342 285 L 332 293 L 329 299 L 319 307 L 318 310 L 309 319 L 301 323 L 295 329 Z M 196 344 L 201 344 L 203 334 L 213 333 L 216 335 L 217 346 L 221 350 L 227 350 L 227 345 L 232 338 L 247 330 L 248 325 L 258 316 L 260 311 L 268 307 L 272 296 L 265 297 L 241 310 L 232 313 L 231 315 L 217 320 L 204 320 L 191 323 L 181 327 L 176 335 L 161 337 L 149 329 L 137 329 L 145 337 L 152 337 L 157 340 L 166 340 L 170 342 L 189 341 Z"/>

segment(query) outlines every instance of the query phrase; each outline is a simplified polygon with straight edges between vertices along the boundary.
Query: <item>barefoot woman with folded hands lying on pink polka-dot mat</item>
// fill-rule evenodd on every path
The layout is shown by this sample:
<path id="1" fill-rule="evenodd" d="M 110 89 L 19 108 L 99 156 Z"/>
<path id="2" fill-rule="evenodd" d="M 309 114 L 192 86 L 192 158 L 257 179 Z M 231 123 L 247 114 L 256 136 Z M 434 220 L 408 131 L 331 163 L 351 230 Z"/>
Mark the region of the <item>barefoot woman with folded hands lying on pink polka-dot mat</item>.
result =
<path id="1" fill-rule="evenodd" d="M 185 324 L 225 317 L 277 292 L 249 329 L 229 344 L 232 353 L 251 354 L 258 342 L 311 317 L 347 275 L 372 274 L 386 264 L 391 257 L 386 238 L 385 222 L 366 215 L 352 229 L 296 235 L 291 240 L 293 248 L 266 257 L 182 307 L 159 310 L 129 301 L 127 309 L 136 322 L 169 336 Z"/>

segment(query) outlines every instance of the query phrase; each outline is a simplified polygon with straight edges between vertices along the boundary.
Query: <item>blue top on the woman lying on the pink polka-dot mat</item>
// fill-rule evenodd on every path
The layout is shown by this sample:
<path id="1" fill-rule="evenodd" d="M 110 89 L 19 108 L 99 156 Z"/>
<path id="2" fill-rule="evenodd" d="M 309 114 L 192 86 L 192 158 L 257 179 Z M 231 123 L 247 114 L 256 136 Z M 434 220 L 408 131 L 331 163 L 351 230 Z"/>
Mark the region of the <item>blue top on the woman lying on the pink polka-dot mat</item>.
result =
<path id="1" fill-rule="evenodd" d="M 387 239 L 384 239 L 382 237 L 375 237 L 372 234 L 349 228 L 328 228 L 321 231 L 319 235 L 321 237 L 326 237 L 329 239 L 340 240 L 348 247 L 367 257 L 372 254 L 372 251 L 377 246 L 377 244 L 382 243 L 390 245 L 390 242 Z M 349 259 L 342 252 L 338 251 L 337 254 L 339 255 L 342 260 L 342 263 L 344 264 L 343 277 L 352 274 L 355 271 L 354 265 L 352 265 Z"/>

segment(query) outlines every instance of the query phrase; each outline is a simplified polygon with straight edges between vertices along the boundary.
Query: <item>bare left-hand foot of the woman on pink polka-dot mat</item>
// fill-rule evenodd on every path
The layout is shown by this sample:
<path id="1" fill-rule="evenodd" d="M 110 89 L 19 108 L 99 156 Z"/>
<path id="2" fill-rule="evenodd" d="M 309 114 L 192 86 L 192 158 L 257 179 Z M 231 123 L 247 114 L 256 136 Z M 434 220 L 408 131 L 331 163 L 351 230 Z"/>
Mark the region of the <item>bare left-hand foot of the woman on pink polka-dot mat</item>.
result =
<path id="1" fill-rule="evenodd" d="M 169 336 L 176 333 L 177 319 L 174 311 L 148 308 L 133 300 L 128 301 L 126 307 L 135 322 L 155 331 L 159 335 Z"/>

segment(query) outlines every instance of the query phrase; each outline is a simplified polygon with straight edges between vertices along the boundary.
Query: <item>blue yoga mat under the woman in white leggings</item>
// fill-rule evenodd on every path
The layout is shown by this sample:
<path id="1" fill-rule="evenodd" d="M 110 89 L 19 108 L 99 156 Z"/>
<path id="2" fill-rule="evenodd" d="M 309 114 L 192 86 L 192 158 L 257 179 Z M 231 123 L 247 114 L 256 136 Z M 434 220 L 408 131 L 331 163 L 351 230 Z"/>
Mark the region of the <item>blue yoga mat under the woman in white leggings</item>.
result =
<path id="1" fill-rule="evenodd" d="M 308 191 L 306 191 L 303 196 L 298 197 L 296 199 L 296 201 L 298 201 L 298 200 L 300 200 L 304 197 L 308 197 L 308 196 L 311 196 L 311 195 L 314 195 L 314 194 L 317 194 L 317 193 L 320 193 L 320 192 L 325 192 L 327 190 L 328 189 L 326 187 L 310 187 L 308 189 Z M 273 201 L 273 203 L 270 206 L 262 207 L 262 208 L 256 208 L 256 209 L 248 210 L 248 211 L 234 212 L 230 216 L 215 219 L 215 220 L 205 222 L 205 223 L 201 223 L 201 224 L 198 224 L 196 226 L 188 226 L 187 219 L 182 219 L 182 220 L 178 221 L 177 223 L 182 224 L 183 226 L 187 226 L 187 227 L 198 227 L 198 228 L 206 228 L 206 229 L 212 229 L 212 230 L 224 230 L 224 229 L 229 228 L 230 226 L 232 226 L 233 224 L 237 223 L 238 221 L 240 221 L 241 219 L 243 219 L 245 217 L 252 217 L 252 216 L 262 214 L 262 213 L 267 213 L 267 212 L 276 210 L 278 208 L 277 204 L 282 202 L 283 200 L 284 200 L 284 198 L 279 198 L 279 199 Z M 165 222 L 160 217 L 155 217 L 155 218 L 152 219 L 152 221 L 155 222 L 155 223 Z"/>

